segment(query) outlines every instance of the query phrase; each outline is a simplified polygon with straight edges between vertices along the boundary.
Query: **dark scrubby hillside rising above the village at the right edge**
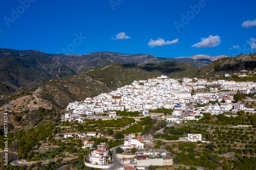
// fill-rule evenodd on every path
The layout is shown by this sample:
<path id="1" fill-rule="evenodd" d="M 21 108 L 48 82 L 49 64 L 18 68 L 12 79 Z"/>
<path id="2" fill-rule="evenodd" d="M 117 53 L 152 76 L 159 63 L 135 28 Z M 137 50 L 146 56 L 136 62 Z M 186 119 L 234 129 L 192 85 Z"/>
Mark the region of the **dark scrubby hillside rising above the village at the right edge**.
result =
<path id="1" fill-rule="evenodd" d="M 224 77 L 225 74 L 239 72 L 240 70 L 254 70 L 256 68 L 256 54 L 238 55 L 215 60 L 213 63 L 201 68 L 199 76 L 202 78 Z"/>

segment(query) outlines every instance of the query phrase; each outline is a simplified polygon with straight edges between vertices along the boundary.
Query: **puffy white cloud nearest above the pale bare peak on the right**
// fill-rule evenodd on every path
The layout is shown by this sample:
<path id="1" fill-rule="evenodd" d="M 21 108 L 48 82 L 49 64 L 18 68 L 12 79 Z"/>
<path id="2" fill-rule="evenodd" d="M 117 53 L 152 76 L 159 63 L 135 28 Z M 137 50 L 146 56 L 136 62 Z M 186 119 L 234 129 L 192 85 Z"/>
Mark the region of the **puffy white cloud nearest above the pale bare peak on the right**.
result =
<path id="1" fill-rule="evenodd" d="M 220 44 L 221 42 L 221 37 L 216 35 L 216 36 L 212 36 L 210 35 L 208 38 L 201 38 L 201 42 L 198 42 L 194 45 L 192 45 L 192 47 L 203 47 L 203 48 L 211 48 L 211 47 L 215 47 L 217 45 Z"/>

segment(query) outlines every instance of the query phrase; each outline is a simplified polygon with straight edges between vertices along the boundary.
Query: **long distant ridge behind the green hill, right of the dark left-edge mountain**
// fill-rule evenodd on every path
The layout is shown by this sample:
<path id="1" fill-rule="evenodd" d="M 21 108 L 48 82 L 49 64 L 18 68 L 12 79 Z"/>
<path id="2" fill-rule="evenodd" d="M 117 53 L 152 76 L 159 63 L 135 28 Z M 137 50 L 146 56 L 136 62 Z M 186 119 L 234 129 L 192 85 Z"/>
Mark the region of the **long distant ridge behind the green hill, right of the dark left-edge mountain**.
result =
<path id="1" fill-rule="evenodd" d="M 53 57 L 60 63 L 75 70 L 78 74 L 115 63 L 141 65 L 146 63 L 181 62 L 198 68 L 207 65 L 203 61 L 196 61 L 191 58 L 159 58 L 149 54 L 120 54 L 112 52 L 97 52 L 85 55 L 54 55 Z"/>

